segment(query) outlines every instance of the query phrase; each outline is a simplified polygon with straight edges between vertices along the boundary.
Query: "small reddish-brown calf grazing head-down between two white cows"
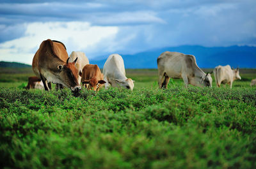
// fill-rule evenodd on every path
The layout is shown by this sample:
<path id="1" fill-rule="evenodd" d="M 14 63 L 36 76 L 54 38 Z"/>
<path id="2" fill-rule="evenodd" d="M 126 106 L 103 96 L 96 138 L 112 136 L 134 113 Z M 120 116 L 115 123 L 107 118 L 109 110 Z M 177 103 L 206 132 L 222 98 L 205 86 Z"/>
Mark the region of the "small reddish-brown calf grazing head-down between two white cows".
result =
<path id="1" fill-rule="evenodd" d="M 82 84 L 88 84 L 87 89 L 99 91 L 100 87 L 106 82 L 97 64 L 86 64 L 82 72 Z"/>

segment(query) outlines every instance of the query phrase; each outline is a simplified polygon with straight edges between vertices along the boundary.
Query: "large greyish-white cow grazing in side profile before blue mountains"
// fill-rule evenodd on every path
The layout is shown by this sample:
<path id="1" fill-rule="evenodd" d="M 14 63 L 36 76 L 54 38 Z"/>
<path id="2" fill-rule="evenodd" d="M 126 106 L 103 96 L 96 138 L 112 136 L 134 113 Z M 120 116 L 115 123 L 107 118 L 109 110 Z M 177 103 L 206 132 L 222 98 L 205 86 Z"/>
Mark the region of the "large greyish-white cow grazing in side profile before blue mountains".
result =
<path id="1" fill-rule="evenodd" d="M 199 87 L 212 87 L 210 73 L 204 73 L 196 64 L 194 55 L 179 52 L 163 52 L 157 57 L 159 89 L 167 88 L 170 78 L 182 78 L 188 84 Z"/>

